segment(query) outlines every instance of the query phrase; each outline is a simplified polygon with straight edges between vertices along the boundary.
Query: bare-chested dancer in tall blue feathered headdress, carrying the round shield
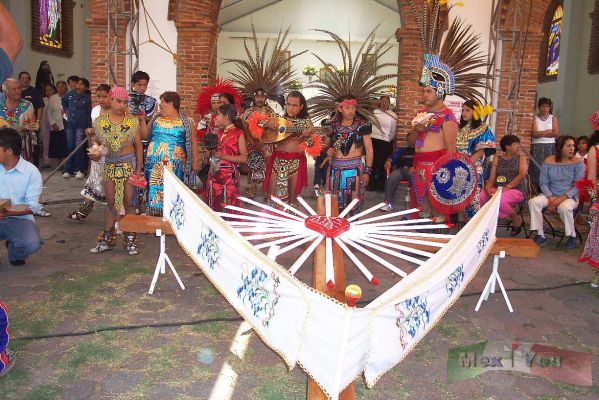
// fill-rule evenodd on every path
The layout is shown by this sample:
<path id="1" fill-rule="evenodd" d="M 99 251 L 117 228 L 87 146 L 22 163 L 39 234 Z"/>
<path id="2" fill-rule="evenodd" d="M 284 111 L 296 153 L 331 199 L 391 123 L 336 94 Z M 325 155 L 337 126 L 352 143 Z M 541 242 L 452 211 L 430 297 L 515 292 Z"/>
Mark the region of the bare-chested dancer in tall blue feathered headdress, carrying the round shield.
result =
<path id="1" fill-rule="evenodd" d="M 454 19 L 441 44 L 443 31 L 439 26 L 439 14 L 441 8 L 445 7 L 441 4 L 446 1 L 426 0 L 421 13 L 418 13 L 412 0 L 409 3 L 418 22 L 424 48 L 424 65 L 419 83 L 424 87 L 422 100 L 426 107 L 412 120 L 413 128 L 408 135 L 408 142 L 416 146 L 412 199 L 415 205 L 429 213 L 432 212 L 429 190 L 434 184 L 433 163 L 447 153 L 456 152 L 458 124 L 443 100 L 447 95 L 456 95 L 465 100 L 482 99 L 478 89 L 485 87 L 486 75 L 473 71 L 487 66 L 487 63 L 479 52 L 478 36 L 472 32 L 469 24 L 459 18 Z M 450 189 L 449 193 L 457 193 L 457 188 L 451 186 Z M 435 208 L 441 213 L 451 212 L 455 208 L 463 209 L 463 203 L 468 202 L 472 193 L 459 192 L 459 195 L 449 196 L 449 193 L 439 193 L 435 189 L 432 196 L 435 198 Z"/>

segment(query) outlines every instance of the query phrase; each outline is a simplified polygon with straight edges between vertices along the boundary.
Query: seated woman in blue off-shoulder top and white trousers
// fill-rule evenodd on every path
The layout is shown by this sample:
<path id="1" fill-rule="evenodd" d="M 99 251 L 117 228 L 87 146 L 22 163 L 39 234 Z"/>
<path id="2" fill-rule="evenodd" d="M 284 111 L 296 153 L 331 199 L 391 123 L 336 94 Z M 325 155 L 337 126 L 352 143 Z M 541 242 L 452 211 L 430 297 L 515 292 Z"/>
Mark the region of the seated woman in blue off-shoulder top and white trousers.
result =
<path id="1" fill-rule="evenodd" d="M 530 210 L 530 229 L 537 231 L 535 243 L 545 244 L 542 211 L 557 212 L 564 223 L 567 249 L 576 248 L 576 231 L 574 230 L 574 209 L 578 207 L 578 188 L 575 182 L 584 176 L 582 160 L 575 155 L 574 138 L 569 135 L 560 136 L 557 141 L 555 155 L 545 159 L 541 167 L 539 184 L 542 194 L 528 201 Z"/>

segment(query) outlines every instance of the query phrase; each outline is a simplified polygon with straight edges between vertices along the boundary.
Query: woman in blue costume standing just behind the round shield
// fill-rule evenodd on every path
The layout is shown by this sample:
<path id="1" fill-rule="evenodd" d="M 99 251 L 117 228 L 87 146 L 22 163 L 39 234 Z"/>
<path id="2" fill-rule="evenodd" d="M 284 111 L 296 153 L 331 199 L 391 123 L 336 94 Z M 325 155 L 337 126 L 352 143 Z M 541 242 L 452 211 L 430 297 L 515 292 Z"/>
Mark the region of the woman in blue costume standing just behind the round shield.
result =
<path id="1" fill-rule="evenodd" d="M 485 124 L 479 114 L 482 107 L 476 100 L 468 100 L 462 105 L 460 131 L 456 137 L 457 150 L 470 157 L 478 172 L 478 187 L 472 203 L 466 207 L 464 214 L 472 218 L 480 210 L 480 191 L 484 187 L 483 167 L 485 158 L 495 154 L 495 135 Z"/>

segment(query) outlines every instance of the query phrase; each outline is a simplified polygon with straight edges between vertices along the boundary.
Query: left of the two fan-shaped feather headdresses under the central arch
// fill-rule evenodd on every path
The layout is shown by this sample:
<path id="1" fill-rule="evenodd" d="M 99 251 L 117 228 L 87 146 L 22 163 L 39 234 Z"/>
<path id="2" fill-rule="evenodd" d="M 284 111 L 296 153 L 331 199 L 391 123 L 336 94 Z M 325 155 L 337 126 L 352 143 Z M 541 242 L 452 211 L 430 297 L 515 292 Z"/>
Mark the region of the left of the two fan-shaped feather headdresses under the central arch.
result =
<path id="1" fill-rule="evenodd" d="M 289 54 L 288 49 L 291 42 L 286 42 L 289 34 L 288 27 L 285 32 L 279 31 L 279 36 L 275 42 L 272 57 L 266 57 L 266 49 L 268 48 L 269 39 L 266 40 L 262 51 L 258 46 L 258 38 L 256 37 L 256 29 L 252 24 L 252 42 L 254 44 L 254 54 L 250 52 L 246 39 L 243 40 L 243 48 L 247 55 L 247 59 L 228 58 L 226 63 L 233 63 L 237 67 L 236 72 L 232 72 L 231 76 L 235 80 L 237 87 L 243 94 L 243 97 L 254 97 L 258 89 L 266 92 L 267 97 L 274 97 L 279 93 L 286 92 L 289 85 L 293 81 L 293 69 L 291 69 L 290 60 L 305 53 L 304 50 L 300 53 Z"/>

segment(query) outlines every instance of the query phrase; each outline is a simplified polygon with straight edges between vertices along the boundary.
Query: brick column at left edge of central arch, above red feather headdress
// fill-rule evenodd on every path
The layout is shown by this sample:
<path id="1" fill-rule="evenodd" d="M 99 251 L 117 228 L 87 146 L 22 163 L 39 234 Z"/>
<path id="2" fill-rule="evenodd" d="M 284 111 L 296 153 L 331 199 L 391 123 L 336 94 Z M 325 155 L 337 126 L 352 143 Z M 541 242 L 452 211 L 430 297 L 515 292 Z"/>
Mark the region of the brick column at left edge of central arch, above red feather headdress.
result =
<path id="1" fill-rule="evenodd" d="M 220 4 L 220 0 L 171 0 L 178 32 L 177 92 L 182 110 L 196 120 L 200 117 L 195 115 L 198 93 L 216 79 Z"/>

